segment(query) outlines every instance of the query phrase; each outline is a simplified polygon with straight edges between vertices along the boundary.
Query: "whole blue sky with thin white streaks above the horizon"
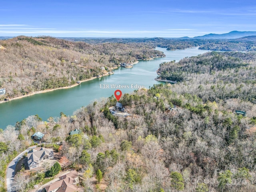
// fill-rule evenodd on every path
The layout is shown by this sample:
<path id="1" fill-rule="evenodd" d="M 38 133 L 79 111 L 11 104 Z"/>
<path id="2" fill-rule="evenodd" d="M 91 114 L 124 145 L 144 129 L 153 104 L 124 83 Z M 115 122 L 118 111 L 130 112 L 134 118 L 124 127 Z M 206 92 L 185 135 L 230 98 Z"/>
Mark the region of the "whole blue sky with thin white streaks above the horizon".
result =
<path id="1" fill-rule="evenodd" d="M 254 0 L 2 0 L 0 36 L 182 37 L 256 31 Z"/>

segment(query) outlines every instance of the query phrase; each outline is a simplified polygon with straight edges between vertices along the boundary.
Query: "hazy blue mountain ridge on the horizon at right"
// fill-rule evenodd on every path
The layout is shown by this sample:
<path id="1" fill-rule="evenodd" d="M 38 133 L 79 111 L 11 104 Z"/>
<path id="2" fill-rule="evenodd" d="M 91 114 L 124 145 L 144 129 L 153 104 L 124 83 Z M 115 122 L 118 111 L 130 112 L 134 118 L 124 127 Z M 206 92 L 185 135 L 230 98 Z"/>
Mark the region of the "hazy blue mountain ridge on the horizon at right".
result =
<path id="1" fill-rule="evenodd" d="M 193 39 L 237 39 L 246 36 L 256 36 L 256 31 L 231 31 L 224 34 L 210 33 L 207 35 L 194 37 Z M 187 39 L 188 37 L 184 38 Z"/>

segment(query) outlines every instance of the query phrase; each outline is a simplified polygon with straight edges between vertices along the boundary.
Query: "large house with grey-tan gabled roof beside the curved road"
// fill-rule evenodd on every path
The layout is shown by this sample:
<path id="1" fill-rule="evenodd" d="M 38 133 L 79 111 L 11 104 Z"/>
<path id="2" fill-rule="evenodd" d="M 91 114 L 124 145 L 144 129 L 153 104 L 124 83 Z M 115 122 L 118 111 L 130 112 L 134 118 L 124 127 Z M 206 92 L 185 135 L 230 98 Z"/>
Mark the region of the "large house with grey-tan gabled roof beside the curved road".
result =
<path id="1" fill-rule="evenodd" d="M 53 159 L 53 150 L 38 147 L 28 152 L 28 168 L 34 169 L 40 167 L 40 162 Z"/>

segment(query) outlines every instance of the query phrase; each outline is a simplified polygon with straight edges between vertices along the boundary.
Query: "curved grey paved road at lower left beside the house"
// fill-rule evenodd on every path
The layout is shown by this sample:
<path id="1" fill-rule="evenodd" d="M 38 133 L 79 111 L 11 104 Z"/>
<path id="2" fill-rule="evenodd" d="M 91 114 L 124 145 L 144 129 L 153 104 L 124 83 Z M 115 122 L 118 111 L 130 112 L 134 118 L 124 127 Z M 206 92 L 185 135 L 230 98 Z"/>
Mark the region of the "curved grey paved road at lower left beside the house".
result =
<path id="1" fill-rule="evenodd" d="M 30 148 L 27 148 L 26 150 L 24 150 L 23 152 L 21 152 L 20 154 L 18 154 L 18 156 L 16 156 L 8 165 L 7 171 L 6 171 L 6 188 L 7 188 L 7 192 L 16 192 L 16 190 L 14 189 L 14 172 L 15 172 L 15 168 L 16 165 L 18 164 L 19 160 L 22 158 L 23 154 L 28 152 L 29 150 L 36 148 L 36 146 L 32 146 Z"/>

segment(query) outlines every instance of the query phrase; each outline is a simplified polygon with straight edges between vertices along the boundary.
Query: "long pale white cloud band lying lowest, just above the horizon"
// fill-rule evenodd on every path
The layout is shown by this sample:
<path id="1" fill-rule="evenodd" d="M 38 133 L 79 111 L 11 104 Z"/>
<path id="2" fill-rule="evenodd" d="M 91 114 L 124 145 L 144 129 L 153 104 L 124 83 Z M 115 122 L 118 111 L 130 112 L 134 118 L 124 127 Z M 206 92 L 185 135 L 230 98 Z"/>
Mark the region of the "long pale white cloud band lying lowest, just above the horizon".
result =
<path id="1" fill-rule="evenodd" d="M 12 34 L 13 36 L 16 35 L 29 35 L 29 36 L 38 36 L 38 35 L 51 35 L 51 36 L 70 36 L 70 37 L 81 37 L 81 36 L 88 36 L 88 37 L 183 37 L 183 36 L 200 36 L 208 33 L 216 33 L 222 34 L 227 33 L 230 31 L 226 31 L 226 29 L 218 29 L 215 28 L 214 31 L 206 32 L 197 29 L 189 29 L 189 28 L 169 28 L 169 29 L 162 29 L 162 30 L 98 30 L 98 29 L 76 29 L 76 30 L 57 30 L 52 28 L 10 28 L 4 29 L 0 27 L 0 34 Z"/>

